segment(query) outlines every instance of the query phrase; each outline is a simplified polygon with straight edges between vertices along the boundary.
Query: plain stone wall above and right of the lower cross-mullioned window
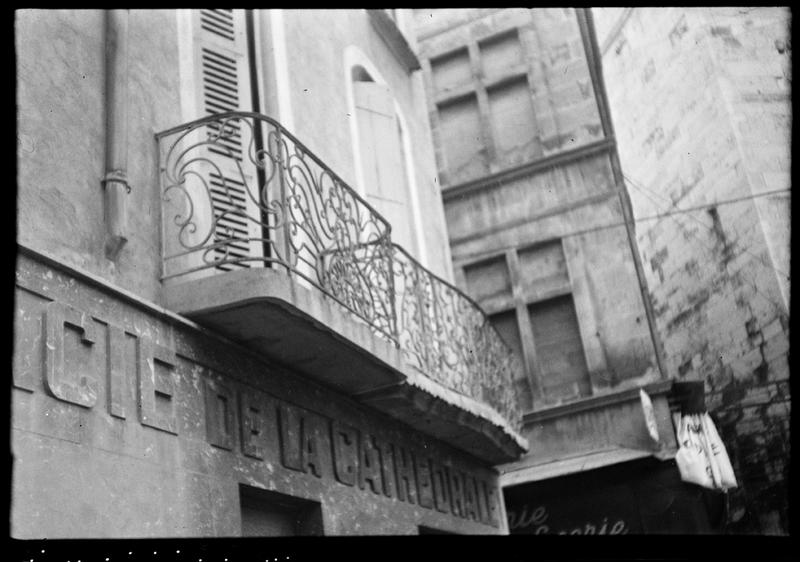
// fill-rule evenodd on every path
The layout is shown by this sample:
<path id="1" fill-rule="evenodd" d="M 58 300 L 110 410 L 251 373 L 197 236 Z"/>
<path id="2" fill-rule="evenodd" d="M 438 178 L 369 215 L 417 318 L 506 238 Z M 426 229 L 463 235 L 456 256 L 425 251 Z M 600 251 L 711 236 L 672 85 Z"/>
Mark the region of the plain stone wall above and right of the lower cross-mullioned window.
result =
<path id="1" fill-rule="evenodd" d="M 561 239 L 593 391 L 658 378 L 607 155 L 446 203 L 454 268 Z M 622 386 L 620 386 L 622 385 Z"/>

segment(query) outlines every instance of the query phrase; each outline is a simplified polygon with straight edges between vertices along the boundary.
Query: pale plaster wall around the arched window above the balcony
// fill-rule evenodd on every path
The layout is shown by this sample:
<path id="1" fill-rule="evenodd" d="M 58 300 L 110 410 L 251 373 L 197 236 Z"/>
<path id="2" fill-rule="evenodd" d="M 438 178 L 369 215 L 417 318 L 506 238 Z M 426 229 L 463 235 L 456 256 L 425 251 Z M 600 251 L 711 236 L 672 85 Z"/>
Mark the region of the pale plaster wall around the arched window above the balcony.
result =
<path id="1" fill-rule="evenodd" d="M 286 26 L 289 90 L 295 134 L 351 186 L 356 188 L 354 143 L 347 107 L 345 50 L 357 47 L 386 80 L 409 127 L 419 209 L 428 254 L 428 268 L 452 277 L 448 263 L 447 230 L 425 95 L 420 72 L 409 74 L 369 21 L 365 10 L 288 10 Z M 314 41 L 309 41 L 313 36 Z M 373 77 L 377 79 L 376 77 Z M 406 248 L 418 257 L 415 248 Z"/>

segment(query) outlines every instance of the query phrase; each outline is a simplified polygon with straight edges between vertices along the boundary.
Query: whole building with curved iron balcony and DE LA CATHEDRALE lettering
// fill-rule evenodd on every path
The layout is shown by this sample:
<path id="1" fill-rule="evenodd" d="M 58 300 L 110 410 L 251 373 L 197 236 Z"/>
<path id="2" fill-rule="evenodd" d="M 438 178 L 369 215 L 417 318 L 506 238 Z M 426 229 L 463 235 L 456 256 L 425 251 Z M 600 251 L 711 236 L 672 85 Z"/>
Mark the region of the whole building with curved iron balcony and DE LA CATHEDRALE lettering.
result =
<path id="1" fill-rule="evenodd" d="M 404 18 L 17 12 L 14 537 L 507 532 Z"/>

